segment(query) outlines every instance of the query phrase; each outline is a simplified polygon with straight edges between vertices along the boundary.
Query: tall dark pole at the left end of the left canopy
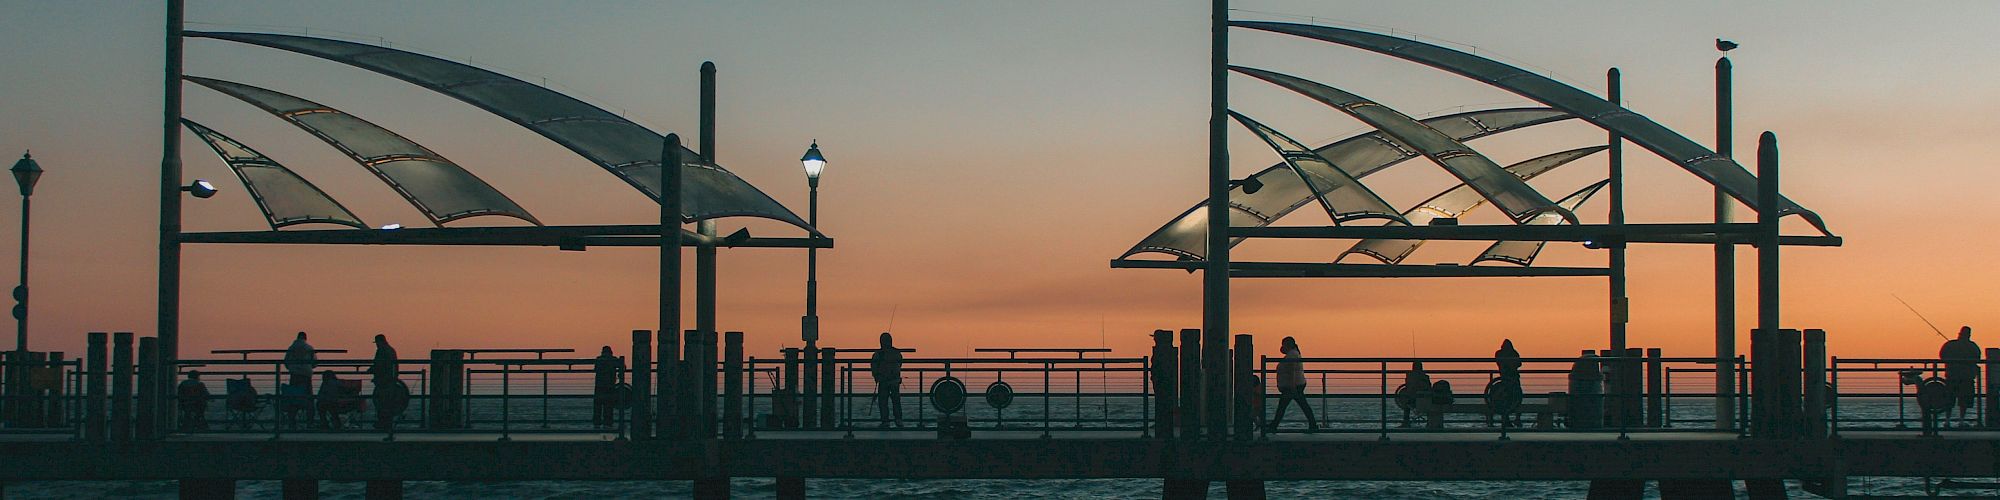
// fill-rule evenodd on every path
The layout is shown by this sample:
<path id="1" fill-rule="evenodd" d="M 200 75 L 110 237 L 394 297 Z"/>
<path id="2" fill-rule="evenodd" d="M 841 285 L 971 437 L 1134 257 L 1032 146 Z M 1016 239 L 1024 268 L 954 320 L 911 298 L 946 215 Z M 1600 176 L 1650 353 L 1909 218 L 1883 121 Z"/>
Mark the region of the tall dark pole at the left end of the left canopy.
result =
<path id="1" fill-rule="evenodd" d="M 166 376 L 140 388 L 166 394 L 174 386 L 172 366 L 180 360 L 180 28 L 186 2 L 166 2 L 166 74 L 160 110 L 160 364 Z"/>

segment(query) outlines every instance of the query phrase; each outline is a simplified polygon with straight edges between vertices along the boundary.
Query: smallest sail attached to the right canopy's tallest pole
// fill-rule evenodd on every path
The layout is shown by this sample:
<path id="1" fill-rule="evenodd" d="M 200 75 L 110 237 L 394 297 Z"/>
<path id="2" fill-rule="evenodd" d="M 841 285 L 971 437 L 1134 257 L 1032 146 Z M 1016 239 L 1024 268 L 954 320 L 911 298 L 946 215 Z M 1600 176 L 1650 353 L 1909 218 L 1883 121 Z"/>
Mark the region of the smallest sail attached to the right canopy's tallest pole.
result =
<path id="1" fill-rule="evenodd" d="M 1284 158 L 1284 164 L 1292 166 L 1292 172 L 1298 172 L 1298 178 L 1306 182 L 1306 190 L 1320 200 L 1320 206 L 1326 208 L 1326 216 L 1332 218 L 1334 224 L 1358 218 L 1386 218 L 1396 224 L 1410 224 L 1408 220 L 1402 220 L 1402 216 L 1396 214 L 1396 208 L 1390 208 L 1382 196 L 1376 196 L 1374 190 L 1368 190 L 1368 186 L 1354 180 L 1352 174 L 1340 170 L 1318 152 L 1312 152 L 1306 144 L 1298 144 L 1298 140 L 1292 140 L 1258 120 L 1250 120 L 1250 116 L 1240 112 L 1230 112 L 1230 118 L 1236 118 L 1236 122 L 1244 124 L 1244 128 L 1250 128 L 1250 132 L 1270 144 L 1270 148 Z M 1258 192 L 1262 192 L 1262 188 L 1258 188 Z"/>

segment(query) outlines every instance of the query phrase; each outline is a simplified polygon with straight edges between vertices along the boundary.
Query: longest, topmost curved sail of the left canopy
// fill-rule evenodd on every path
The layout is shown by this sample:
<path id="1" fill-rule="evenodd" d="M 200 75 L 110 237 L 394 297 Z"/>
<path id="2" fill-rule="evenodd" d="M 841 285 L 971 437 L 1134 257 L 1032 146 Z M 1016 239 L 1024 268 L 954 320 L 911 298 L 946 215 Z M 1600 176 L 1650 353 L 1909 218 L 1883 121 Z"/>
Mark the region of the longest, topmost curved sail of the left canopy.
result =
<path id="1" fill-rule="evenodd" d="M 664 136 L 562 92 L 460 62 L 384 46 L 290 34 L 184 34 L 290 50 L 430 88 L 542 134 L 610 170 L 652 200 L 658 202 L 662 198 L 660 144 L 664 144 Z M 684 190 L 680 202 L 684 222 L 756 216 L 818 234 L 798 214 L 792 214 L 792 210 L 722 166 L 706 164 L 700 160 L 700 154 L 686 148 L 682 148 L 680 158 L 686 158 L 682 164 Z"/>

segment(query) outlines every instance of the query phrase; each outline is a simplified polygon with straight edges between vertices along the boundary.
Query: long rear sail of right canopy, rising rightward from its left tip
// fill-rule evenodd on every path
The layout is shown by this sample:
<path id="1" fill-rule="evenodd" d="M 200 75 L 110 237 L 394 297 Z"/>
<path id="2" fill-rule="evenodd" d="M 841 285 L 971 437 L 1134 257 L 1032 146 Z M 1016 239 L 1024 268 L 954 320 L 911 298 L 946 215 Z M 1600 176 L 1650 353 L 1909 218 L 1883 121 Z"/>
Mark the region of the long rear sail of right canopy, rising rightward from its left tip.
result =
<path id="1" fill-rule="evenodd" d="M 1458 112 L 1422 120 L 1426 126 L 1444 132 L 1460 142 L 1484 138 L 1508 130 L 1520 130 L 1538 124 L 1550 124 L 1574 118 L 1570 114 L 1548 110 L 1548 108 L 1500 108 L 1500 110 L 1476 110 Z M 1394 136 L 1384 132 L 1368 132 L 1338 142 L 1320 146 L 1312 150 L 1330 164 L 1346 170 L 1356 180 L 1368 174 L 1380 172 L 1402 164 L 1404 160 L 1420 156 L 1414 148 L 1402 144 Z M 1246 192 L 1244 186 L 1262 186 L 1258 192 Z M 1304 180 L 1292 172 L 1284 162 L 1268 166 L 1238 186 L 1230 188 L 1230 224 L 1232 226 L 1270 226 L 1272 220 L 1284 218 L 1292 210 L 1306 206 L 1316 196 L 1306 188 Z M 1148 234 L 1144 240 L 1126 250 L 1118 258 L 1128 258 L 1136 254 L 1170 254 L 1184 260 L 1202 260 L 1208 256 L 1208 246 L 1202 240 L 1208 230 L 1208 212 L 1202 210 L 1208 202 L 1202 200 L 1168 220 L 1164 226 Z M 1230 244 L 1238 244 L 1242 238 L 1230 238 Z"/>

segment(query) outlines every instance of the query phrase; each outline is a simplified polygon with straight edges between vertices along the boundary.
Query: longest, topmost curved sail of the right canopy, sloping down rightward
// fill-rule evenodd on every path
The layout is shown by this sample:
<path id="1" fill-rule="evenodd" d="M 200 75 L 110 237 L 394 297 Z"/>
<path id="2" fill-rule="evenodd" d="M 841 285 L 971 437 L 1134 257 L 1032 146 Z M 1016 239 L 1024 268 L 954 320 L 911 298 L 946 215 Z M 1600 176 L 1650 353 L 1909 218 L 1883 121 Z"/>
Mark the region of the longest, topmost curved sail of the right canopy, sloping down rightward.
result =
<path id="1" fill-rule="evenodd" d="M 1322 42 L 1380 52 L 1386 56 L 1454 72 L 1520 94 L 1524 98 L 1538 100 L 1542 104 L 1548 104 L 1550 108 L 1576 114 L 1586 122 L 1596 124 L 1604 130 L 1618 132 L 1626 140 L 1632 140 L 1632 144 L 1638 144 L 1640 148 L 1646 148 L 1658 154 L 1660 158 L 1672 160 L 1674 164 L 1680 164 L 1688 172 L 1694 172 L 1694 176 L 1708 180 L 1708 184 L 1714 184 L 1722 192 L 1728 192 L 1738 202 L 1750 206 L 1750 210 L 1762 210 L 1756 200 L 1756 176 L 1750 174 L 1750 170 L 1744 170 L 1742 164 L 1736 164 L 1736 160 L 1716 154 L 1714 150 L 1708 150 L 1706 146 L 1688 140 L 1686 136 L 1666 126 L 1660 126 L 1652 118 L 1626 110 L 1624 106 L 1592 96 L 1590 92 L 1578 90 L 1574 86 L 1550 80 L 1546 76 L 1418 40 L 1360 32 L 1360 30 L 1294 24 L 1294 22 L 1250 22 L 1250 20 L 1230 22 L 1230 26 L 1314 38 Z M 1780 216 L 1798 214 L 1800 218 L 1806 218 L 1806 222 L 1810 222 L 1822 234 L 1832 234 L 1826 230 L 1826 222 L 1820 220 L 1818 214 L 1806 210 L 1804 206 L 1798 206 L 1790 198 L 1780 196 L 1776 210 Z"/>

